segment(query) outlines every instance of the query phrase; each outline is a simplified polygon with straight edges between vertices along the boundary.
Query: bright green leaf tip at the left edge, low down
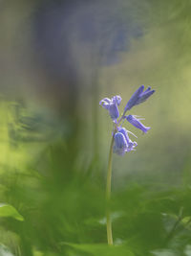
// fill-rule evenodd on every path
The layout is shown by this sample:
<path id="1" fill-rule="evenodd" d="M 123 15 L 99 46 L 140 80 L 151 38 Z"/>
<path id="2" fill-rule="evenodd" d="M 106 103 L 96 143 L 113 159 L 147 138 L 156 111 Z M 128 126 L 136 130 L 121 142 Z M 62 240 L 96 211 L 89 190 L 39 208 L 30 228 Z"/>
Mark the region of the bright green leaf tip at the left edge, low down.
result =
<path id="1" fill-rule="evenodd" d="M 24 221 L 24 218 L 10 204 L 0 203 L 0 217 L 11 217 L 17 221 Z"/>

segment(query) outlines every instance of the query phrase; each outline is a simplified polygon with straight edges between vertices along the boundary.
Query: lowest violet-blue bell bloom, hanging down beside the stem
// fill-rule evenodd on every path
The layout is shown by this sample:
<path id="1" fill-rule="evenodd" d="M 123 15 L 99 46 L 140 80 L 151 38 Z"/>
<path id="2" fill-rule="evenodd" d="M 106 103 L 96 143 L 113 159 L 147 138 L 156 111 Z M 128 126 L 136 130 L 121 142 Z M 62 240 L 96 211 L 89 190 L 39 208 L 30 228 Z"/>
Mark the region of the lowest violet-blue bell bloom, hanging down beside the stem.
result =
<path id="1" fill-rule="evenodd" d="M 125 128 L 118 128 L 114 139 L 114 152 L 116 152 L 118 155 L 124 155 L 127 151 L 135 151 L 134 148 L 138 145 L 137 142 L 132 142 L 130 140 Z"/>

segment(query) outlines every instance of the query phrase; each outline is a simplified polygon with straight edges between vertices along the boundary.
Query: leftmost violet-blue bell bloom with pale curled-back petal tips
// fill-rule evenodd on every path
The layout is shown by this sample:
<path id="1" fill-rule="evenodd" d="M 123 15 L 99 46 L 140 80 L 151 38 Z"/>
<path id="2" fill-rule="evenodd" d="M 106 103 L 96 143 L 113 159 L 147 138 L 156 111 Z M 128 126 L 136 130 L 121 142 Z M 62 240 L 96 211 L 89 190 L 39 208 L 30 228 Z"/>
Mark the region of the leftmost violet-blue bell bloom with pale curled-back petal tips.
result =
<path id="1" fill-rule="evenodd" d="M 107 109 L 111 118 L 116 121 L 119 116 L 117 105 L 120 105 L 120 102 L 121 97 L 117 95 L 114 96 L 112 99 L 104 98 L 99 102 L 99 105 L 102 105 L 105 109 Z"/>

